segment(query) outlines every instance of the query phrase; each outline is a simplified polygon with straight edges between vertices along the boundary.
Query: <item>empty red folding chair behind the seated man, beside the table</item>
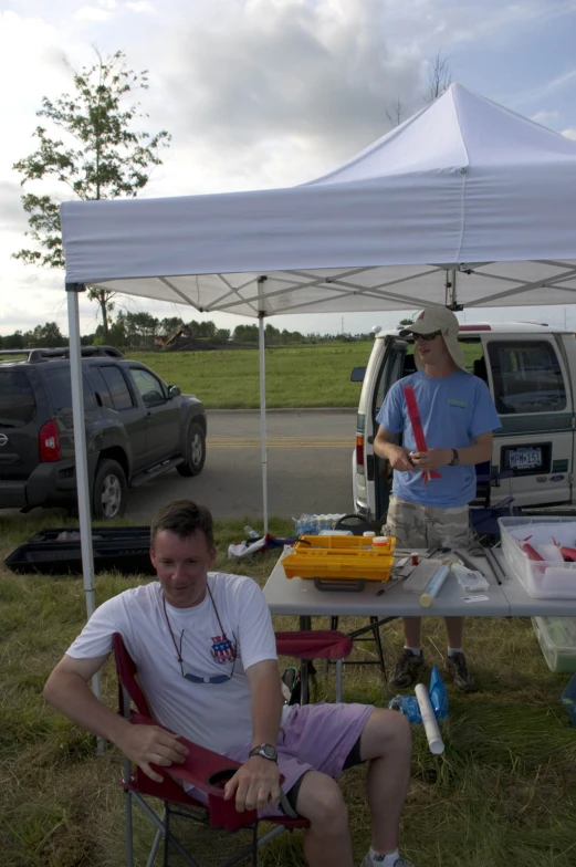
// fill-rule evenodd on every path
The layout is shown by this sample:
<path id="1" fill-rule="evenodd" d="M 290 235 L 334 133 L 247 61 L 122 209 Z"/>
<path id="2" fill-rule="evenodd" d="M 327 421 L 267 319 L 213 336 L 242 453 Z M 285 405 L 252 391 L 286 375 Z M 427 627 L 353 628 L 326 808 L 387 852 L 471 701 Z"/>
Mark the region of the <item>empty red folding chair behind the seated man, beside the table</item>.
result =
<path id="1" fill-rule="evenodd" d="M 354 641 L 335 629 L 301 629 L 295 633 L 276 633 L 276 650 L 280 656 L 293 656 L 305 662 L 302 668 L 302 703 L 306 704 L 307 664 L 313 659 L 336 660 L 336 701 L 342 701 L 342 675 L 344 660 L 349 657 Z"/>

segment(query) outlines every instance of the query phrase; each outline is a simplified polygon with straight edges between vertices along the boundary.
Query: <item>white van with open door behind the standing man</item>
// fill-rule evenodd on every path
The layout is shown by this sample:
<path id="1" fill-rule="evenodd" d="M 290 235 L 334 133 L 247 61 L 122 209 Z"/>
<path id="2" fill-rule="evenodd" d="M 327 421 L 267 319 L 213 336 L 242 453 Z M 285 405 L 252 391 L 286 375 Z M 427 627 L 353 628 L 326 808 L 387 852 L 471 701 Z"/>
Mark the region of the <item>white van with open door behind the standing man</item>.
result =
<path id="1" fill-rule="evenodd" d="M 572 331 L 547 325 L 460 325 L 467 369 L 488 384 L 502 424 L 490 464 L 478 464 L 475 505 L 513 498 L 520 508 L 575 502 L 576 340 Z M 390 386 L 413 373 L 413 341 L 399 330 L 376 335 L 362 382 L 353 453 L 357 514 L 379 521 L 388 509 L 391 471 L 374 453 L 376 416 Z"/>

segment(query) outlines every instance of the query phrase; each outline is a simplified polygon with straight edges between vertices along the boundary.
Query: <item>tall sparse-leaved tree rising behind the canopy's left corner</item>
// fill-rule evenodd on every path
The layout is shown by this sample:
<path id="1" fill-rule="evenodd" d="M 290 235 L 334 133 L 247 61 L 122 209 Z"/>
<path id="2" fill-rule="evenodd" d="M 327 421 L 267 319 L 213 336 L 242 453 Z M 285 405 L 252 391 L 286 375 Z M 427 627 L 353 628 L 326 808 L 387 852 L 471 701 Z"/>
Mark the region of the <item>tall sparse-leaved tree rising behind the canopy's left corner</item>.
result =
<path id="1" fill-rule="evenodd" d="M 117 51 L 103 56 L 96 51 L 93 66 L 73 73 L 74 91 L 55 101 L 42 97 L 36 112 L 55 128 L 51 137 L 36 126 L 38 149 L 14 163 L 13 168 L 30 181 L 56 181 L 78 199 L 134 198 L 146 186 L 154 166 L 161 165 L 159 148 L 168 145 L 169 134 L 163 129 L 154 136 L 134 130 L 133 122 L 142 114 L 139 103 L 125 105 L 133 92 L 148 88 L 148 72 L 133 72 L 125 55 Z M 62 136 L 62 137 L 61 137 Z M 64 268 L 60 227 L 59 194 L 27 192 L 22 205 L 29 215 L 27 232 L 41 249 L 14 253 L 25 264 Z M 114 307 L 114 292 L 90 289 L 88 296 L 100 305 L 103 337 L 108 338 L 108 318 Z"/>

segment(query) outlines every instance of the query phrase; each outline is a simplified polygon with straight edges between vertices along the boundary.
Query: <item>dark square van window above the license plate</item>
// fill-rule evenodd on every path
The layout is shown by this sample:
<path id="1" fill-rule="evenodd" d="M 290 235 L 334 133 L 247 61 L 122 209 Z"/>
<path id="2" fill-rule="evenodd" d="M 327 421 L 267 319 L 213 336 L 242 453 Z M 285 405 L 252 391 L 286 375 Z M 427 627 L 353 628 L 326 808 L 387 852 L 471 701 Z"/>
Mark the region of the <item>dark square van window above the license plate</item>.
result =
<path id="1" fill-rule="evenodd" d="M 557 412 L 566 408 L 566 386 L 551 343 L 491 341 L 488 354 L 500 415 Z"/>

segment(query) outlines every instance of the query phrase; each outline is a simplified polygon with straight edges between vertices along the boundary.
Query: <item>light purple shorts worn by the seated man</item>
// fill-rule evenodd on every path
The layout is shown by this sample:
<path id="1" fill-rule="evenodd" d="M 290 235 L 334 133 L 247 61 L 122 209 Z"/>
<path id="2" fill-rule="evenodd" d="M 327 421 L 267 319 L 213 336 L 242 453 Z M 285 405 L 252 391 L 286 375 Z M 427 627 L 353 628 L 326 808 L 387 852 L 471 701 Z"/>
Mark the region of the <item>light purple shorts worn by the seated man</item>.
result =
<path id="1" fill-rule="evenodd" d="M 346 759 L 371 715 L 371 704 L 295 706 L 276 742 L 282 788 L 287 794 L 306 771 L 320 771 L 337 777 Z M 230 759 L 245 762 L 250 745 L 228 751 Z M 283 815 L 281 807 L 268 807 L 261 816 Z"/>

